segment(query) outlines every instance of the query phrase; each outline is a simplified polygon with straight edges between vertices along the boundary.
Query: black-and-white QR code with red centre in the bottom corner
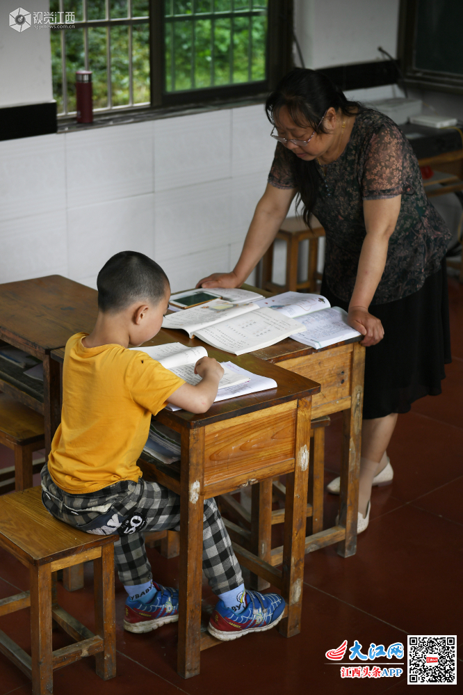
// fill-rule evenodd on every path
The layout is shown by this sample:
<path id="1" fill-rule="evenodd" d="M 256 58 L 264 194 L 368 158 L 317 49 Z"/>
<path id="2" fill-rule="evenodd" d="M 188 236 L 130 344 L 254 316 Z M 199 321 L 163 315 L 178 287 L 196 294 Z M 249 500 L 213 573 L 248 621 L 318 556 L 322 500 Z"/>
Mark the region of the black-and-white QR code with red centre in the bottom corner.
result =
<path id="1" fill-rule="evenodd" d="M 408 685 L 457 685 L 457 635 L 408 635 Z"/>

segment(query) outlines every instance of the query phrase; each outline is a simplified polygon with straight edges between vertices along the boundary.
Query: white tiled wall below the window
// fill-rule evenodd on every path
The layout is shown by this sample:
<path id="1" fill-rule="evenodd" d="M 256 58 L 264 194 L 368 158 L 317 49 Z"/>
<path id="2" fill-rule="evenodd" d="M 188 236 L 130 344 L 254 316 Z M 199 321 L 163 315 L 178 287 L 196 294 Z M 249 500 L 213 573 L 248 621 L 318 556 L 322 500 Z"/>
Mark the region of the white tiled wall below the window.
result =
<path id="1" fill-rule="evenodd" d="M 60 273 L 96 287 L 126 249 L 154 257 L 174 290 L 231 270 L 270 129 L 258 105 L 0 142 L 0 282 Z"/>

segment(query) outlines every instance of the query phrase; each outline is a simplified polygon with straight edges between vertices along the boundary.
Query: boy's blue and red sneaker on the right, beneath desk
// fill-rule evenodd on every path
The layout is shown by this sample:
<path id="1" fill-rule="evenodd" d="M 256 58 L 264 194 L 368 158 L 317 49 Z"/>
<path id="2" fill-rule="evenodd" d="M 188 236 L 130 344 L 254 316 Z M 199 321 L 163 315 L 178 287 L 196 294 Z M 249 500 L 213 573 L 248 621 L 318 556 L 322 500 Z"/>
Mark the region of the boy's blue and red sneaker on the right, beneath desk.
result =
<path id="1" fill-rule="evenodd" d="M 217 639 L 227 641 L 249 632 L 270 630 L 283 617 L 285 602 L 277 593 L 245 589 L 245 601 L 246 607 L 238 615 L 219 601 L 209 620 L 208 632 Z"/>

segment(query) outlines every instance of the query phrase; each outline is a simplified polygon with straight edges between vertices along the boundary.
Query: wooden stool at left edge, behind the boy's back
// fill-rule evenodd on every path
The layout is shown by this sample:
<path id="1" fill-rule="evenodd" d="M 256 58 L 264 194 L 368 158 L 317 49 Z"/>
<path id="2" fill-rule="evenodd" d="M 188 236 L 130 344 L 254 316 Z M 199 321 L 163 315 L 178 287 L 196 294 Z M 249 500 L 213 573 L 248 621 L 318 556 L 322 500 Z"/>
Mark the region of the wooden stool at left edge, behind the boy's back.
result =
<path id="1" fill-rule="evenodd" d="M 32 463 L 33 452 L 45 447 L 43 415 L 0 393 L 0 444 L 15 452 L 15 465 L 0 470 L 0 494 L 31 488 L 33 473 L 43 466 Z"/>

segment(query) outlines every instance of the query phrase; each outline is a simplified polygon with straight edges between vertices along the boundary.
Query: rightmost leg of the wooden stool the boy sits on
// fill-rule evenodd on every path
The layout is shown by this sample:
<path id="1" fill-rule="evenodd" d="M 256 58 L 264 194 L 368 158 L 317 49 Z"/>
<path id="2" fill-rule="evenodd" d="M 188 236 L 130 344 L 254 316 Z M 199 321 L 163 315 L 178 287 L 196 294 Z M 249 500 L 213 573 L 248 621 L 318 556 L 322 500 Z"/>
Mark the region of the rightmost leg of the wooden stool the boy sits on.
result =
<path id="1" fill-rule="evenodd" d="M 95 583 L 95 628 L 104 639 L 104 650 L 95 654 L 97 674 L 103 680 L 116 675 L 115 671 L 115 602 L 114 602 L 114 546 L 101 548 L 101 557 L 93 561 Z"/>

